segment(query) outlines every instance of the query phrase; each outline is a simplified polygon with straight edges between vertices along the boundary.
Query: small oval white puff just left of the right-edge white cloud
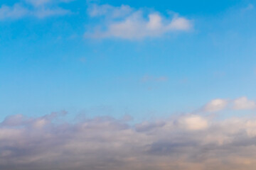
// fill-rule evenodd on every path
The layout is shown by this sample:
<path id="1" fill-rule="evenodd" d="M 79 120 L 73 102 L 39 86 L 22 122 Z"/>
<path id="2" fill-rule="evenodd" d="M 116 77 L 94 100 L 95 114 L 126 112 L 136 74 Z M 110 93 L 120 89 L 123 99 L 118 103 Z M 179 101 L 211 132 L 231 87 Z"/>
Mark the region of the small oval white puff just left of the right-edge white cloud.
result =
<path id="1" fill-rule="evenodd" d="M 217 98 L 204 106 L 203 110 L 206 112 L 218 112 L 228 106 L 228 101 L 225 99 Z"/>

